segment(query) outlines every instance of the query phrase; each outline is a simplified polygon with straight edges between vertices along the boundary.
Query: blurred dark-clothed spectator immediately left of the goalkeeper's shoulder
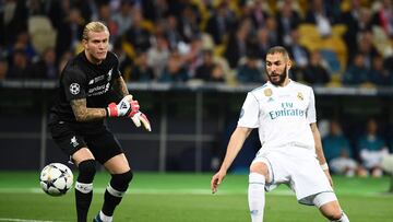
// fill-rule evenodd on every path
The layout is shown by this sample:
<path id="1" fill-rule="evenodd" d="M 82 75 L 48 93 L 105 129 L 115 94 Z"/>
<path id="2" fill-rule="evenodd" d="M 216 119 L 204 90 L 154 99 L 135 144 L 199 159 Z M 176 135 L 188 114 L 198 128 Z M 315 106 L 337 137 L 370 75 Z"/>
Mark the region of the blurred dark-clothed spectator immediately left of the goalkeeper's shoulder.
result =
<path id="1" fill-rule="evenodd" d="M 58 65 L 56 63 L 55 48 L 49 47 L 44 50 L 41 58 L 33 63 L 32 77 L 44 80 L 57 80 L 59 77 Z"/>

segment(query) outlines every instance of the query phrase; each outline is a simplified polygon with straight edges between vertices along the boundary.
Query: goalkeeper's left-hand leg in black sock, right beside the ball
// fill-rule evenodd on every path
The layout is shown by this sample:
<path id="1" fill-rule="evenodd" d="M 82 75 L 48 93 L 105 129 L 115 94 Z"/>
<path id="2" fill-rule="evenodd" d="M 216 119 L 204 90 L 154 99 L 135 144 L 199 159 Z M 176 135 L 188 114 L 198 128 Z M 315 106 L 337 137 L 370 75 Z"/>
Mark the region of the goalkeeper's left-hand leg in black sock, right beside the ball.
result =
<path id="1" fill-rule="evenodd" d="M 93 198 L 93 179 L 96 173 L 95 160 L 87 148 L 78 150 L 72 155 L 72 160 L 79 170 L 75 183 L 78 221 L 85 222 L 87 220 L 87 212 Z"/>

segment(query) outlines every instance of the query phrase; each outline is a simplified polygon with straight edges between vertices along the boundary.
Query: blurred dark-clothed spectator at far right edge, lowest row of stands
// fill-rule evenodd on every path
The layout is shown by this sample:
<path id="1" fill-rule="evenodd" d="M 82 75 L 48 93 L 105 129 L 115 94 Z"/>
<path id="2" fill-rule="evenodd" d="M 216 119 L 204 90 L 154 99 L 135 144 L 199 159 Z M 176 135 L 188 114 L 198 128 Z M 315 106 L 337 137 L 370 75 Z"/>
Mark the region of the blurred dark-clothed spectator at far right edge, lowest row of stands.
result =
<path id="1" fill-rule="evenodd" d="M 372 59 L 372 68 L 370 70 L 370 80 L 379 86 L 392 86 L 393 75 L 383 67 L 382 56 L 376 56 Z"/>

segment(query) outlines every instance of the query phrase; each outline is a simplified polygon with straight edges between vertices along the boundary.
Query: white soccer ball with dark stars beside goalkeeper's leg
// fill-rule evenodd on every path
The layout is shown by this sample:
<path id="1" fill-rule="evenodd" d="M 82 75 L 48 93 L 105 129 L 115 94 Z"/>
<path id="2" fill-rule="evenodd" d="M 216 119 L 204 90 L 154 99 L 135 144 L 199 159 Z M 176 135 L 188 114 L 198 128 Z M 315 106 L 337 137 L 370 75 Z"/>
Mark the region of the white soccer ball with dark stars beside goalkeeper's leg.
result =
<path id="1" fill-rule="evenodd" d="M 61 163 L 46 165 L 40 172 L 39 184 L 50 196 L 62 196 L 71 188 L 73 175 L 71 170 Z"/>

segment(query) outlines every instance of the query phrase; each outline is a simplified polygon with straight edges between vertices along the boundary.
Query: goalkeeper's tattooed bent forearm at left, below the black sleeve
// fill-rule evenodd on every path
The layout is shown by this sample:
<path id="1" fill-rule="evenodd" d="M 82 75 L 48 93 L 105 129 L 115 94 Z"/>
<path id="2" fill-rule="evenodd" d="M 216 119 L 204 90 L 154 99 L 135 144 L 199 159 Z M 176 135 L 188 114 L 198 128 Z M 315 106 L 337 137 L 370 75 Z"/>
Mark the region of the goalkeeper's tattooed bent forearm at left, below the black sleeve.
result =
<path id="1" fill-rule="evenodd" d="M 78 121 L 93 121 L 106 117 L 104 108 L 87 108 L 86 98 L 72 100 L 70 104 Z"/>

